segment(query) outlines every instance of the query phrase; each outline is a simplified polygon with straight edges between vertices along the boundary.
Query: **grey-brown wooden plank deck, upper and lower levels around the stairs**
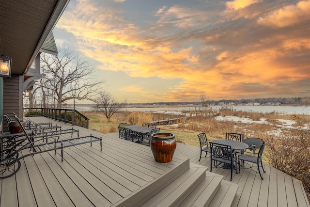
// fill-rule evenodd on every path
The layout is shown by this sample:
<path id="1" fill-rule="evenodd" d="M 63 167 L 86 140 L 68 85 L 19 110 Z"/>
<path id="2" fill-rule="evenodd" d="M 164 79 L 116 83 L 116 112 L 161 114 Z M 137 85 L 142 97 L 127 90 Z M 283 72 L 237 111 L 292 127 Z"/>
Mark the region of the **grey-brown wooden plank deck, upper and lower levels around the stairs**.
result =
<path id="1" fill-rule="evenodd" d="M 52 122 L 62 129 L 72 128 L 44 117 L 31 120 Z M 193 163 L 192 174 L 204 172 L 197 166 L 210 165 L 209 158 L 198 161 L 200 148 L 196 146 L 177 143 L 173 160 L 168 164 L 157 163 L 150 147 L 119 139 L 118 133 L 102 134 L 77 126 L 73 128 L 79 130 L 79 137 L 90 134 L 102 137 L 102 152 L 100 143 L 94 142 L 92 147 L 82 144 L 65 148 L 63 162 L 60 151 L 56 155 L 51 151 L 21 159 L 22 165 L 16 175 L 0 180 L 1 207 L 141 206 L 146 201 L 154 202 L 152 196 L 173 182 L 176 174 L 187 171 L 189 161 Z M 71 134 L 63 135 L 63 139 L 68 138 Z M 234 188 L 234 207 L 310 207 L 299 180 L 268 165 L 265 169 L 264 180 L 246 167 L 240 174 L 233 174 L 232 183 L 228 170 L 215 168 L 212 173 L 224 177 L 222 185 L 227 189 L 237 187 Z M 141 197 L 144 200 L 137 203 Z M 186 205 L 182 203 L 182 206 Z"/>

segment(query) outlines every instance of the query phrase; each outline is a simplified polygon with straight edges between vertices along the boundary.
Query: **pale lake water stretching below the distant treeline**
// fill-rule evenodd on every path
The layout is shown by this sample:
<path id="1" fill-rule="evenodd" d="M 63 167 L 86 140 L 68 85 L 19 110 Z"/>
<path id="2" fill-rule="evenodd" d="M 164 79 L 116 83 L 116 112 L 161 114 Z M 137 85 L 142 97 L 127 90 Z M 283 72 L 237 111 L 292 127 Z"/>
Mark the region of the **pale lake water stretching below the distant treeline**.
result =
<path id="1" fill-rule="evenodd" d="M 221 106 L 211 106 L 212 110 L 219 110 Z M 283 114 L 306 114 L 310 115 L 310 107 L 305 106 L 229 106 L 236 111 L 253 111 L 253 112 L 263 112 L 263 113 L 283 113 Z M 92 107 L 77 107 L 77 111 L 91 111 Z M 123 109 L 125 111 L 126 109 Z M 152 107 L 135 107 L 127 108 L 127 111 L 149 111 L 149 112 L 161 112 L 161 113 L 181 113 L 181 111 L 195 111 L 195 110 L 205 110 L 205 107 L 200 106 L 184 106 L 184 107 L 162 107 L 162 108 L 152 108 Z M 174 111 L 174 112 L 172 112 Z"/>

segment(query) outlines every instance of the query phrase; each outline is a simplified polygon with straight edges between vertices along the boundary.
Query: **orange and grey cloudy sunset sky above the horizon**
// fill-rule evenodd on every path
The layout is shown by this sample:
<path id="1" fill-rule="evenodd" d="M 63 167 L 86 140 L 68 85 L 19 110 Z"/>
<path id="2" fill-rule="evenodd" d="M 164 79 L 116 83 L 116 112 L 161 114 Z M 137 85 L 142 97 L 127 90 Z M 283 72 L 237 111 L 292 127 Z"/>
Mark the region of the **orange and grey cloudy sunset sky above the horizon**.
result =
<path id="1" fill-rule="evenodd" d="M 53 33 L 120 102 L 309 96 L 310 0 L 70 0 Z"/>

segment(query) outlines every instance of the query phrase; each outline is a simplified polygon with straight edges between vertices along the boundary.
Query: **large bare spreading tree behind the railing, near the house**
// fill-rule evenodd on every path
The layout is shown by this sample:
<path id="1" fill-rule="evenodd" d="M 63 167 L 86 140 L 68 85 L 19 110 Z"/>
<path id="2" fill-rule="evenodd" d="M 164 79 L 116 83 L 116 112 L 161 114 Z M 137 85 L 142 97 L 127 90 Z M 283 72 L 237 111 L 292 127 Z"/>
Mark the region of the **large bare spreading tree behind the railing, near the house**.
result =
<path id="1" fill-rule="evenodd" d="M 68 49 L 63 49 L 58 54 L 41 55 L 41 70 L 45 74 L 40 81 L 41 87 L 44 88 L 43 98 L 49 91 L 50 97 L 53 98 L 51 104 L 55 105 L 57 100 L 57 108 L 62 108 L 62 103 L 70 99 L 92 100 L 104 83 L 91 78 L 95 68 Z"/>

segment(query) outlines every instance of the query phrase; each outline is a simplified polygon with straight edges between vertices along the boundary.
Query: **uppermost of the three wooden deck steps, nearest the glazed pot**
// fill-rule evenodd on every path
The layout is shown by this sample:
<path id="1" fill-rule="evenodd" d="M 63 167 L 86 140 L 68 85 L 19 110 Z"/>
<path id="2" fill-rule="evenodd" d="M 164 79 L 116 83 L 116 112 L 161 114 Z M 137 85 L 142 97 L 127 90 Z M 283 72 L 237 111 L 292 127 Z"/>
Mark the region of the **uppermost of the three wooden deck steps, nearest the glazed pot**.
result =
<path id="1" fill-rule="evenodd" d="M 190 168 L 162 191 L 142 205 L 142 207 L 179 206 L 183 200 L 205 179 L 207 168 L 190 165 Z"/>

